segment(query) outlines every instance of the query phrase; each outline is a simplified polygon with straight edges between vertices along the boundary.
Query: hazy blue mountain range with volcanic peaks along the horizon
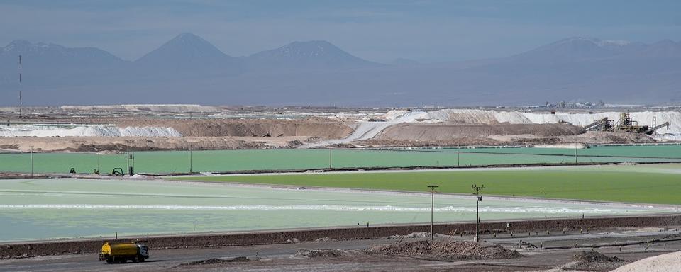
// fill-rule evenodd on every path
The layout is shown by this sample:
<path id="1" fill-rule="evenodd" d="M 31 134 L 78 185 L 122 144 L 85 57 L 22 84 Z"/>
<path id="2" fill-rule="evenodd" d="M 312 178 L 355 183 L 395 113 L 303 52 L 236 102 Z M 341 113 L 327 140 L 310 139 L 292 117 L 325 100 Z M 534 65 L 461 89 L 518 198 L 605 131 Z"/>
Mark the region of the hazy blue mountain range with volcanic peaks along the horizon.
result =
<path id="1" fill-rule="evenodd" d="M 18 84 L 18 55 L 22 83 Z M 0 49 L 0 105 L 519 106 L 681 103 L 681 42 L 567 38 L 509 57 L 380 64 L 330 42 L 245 57 L 182 33 L 127 61 L 92 47 L 15 40 Z"/>

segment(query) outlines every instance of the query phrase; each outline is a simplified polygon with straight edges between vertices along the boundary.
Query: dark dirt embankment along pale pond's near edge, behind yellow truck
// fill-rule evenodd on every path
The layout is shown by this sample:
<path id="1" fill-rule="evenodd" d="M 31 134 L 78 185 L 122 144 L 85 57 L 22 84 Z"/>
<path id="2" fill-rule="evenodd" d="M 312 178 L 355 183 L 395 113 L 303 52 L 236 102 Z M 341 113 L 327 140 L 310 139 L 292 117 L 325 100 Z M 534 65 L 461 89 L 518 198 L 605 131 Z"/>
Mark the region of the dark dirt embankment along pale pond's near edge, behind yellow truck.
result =
<path id="1" fill-rule="evenodd" d="M 652 215 L 637 217 L 600 217 L 586 219 L 525 220 L 507 222 L 482 222 L 480 233 L 504 232 L 562 232 L 567 229 L 611 229 L 613 227 L 677 227 L 681 215 Z M 128 242 L 135 239 L 146 241 L 151 249 L 187 249 L 216 246 L 243 246 L 254 244 L 284 244 L 289 239 L 314 241 L 320 237 L 331 239 L 369 239 L 426 232 L 429 225 L 398 225 L 377 227 L 346 227 L 329 229 L 304 229 L 282 232 L 254 232 L 236 234 L 188 234 L 184 236 L 128 237 L 118 239 Z M 437 224 L 433 231 L 443 234 L 473 234 L 475 223 Z M 0 244 L 0 259 L 45 256 L 55 254 L 94 253 L 101 249 L 104 241 L 111 239 L 86 239 L 53 242 L 18 242 Z"/>

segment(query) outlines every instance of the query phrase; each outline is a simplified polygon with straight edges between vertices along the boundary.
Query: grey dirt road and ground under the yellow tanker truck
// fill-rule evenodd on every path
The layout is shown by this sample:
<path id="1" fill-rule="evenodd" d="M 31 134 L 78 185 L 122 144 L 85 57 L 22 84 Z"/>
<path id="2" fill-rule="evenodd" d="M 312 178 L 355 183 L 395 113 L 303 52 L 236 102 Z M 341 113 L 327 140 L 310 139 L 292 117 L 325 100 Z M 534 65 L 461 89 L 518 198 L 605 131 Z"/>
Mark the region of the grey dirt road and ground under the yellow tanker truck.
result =
<path id="1" fill-rule="evenodd" d="M 627 262 L 609 263 L 619 266 L 672 251 L 681 250 L 678 229 L 620 229 L 594 234 L 545 235 L 531 233 L 499 235 L 494 238 L 484 234 L 482 239 L 519 251 L 523 256 L 517 259 L 438 261 L 384 255 L 357 254 L 354 256 L 309 258 L 297 256 L 299 249 L 343 249 L 362 250 L 380 244 L 395 244 L 423 240 L 424 238 L 362 239 L 350 241 L 303 242 L 299 244 L 274 244 L 258 246 L 226 246 L 208 249 L 166 249 L 152 250 L 151 258 L 145 263 L 108 265 L 97 261 L 96 254 L 75 254 L 65 256 L 41 256 L 28 259 L 0 261 L 0 271 L 562 271 L 569 268 L 575 254 L 582 251 L 598 251 L 607 256 L 616 256 Z M 648 244 L 653 239 L 665 238 L 666 242 Z M 439 237 L 438 239 L 470 240 L 468 236 Z M 523 244 L 521 241 L 525 241 Z M 624 244 L 629 246 L 603 246 Z M 642 242 L 636 244 L 636 242 Z M 529 243 L 529 244 L 528 244 Z M 577 248 L 563 248 L 574 245 Z M 519 244 L 521 246 L 519 246 Z M 534 248 L 533 246 L 541 246 Z M 597 246 L 597 247 L 592 247 Z M 247 256 L 251 261 L 181 266 L 192 261 L 207 259 L 232 259 Z M 570 271 L 574 269 L 570 268 Z M 593 266 L 587 271 L 603 271 Z"/>

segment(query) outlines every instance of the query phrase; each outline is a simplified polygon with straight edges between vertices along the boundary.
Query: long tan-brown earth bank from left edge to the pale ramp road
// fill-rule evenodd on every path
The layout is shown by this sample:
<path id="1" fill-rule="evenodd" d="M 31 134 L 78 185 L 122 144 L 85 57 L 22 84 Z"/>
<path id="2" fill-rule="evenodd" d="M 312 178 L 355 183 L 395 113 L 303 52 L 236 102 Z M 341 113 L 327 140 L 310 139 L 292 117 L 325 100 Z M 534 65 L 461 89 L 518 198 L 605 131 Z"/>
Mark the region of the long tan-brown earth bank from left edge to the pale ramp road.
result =
<path id="1" fill-rule="evenodd" d="M 143 119 L 111 120 L 119 127 L 174 128 L 184 137 L 0 137 L 0 149 L 28 152 L 121 152 L 126 150 L 295 148 L 353 132 L 340 120 Z"/>

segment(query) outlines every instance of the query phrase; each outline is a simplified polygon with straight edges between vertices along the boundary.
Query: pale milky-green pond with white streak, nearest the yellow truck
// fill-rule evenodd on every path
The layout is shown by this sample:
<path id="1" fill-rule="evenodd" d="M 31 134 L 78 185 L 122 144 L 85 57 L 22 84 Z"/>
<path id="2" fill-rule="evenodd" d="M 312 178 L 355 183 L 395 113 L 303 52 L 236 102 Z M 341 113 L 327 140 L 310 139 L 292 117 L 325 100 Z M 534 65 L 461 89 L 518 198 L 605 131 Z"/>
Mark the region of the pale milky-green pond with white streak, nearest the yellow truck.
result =
<path id="1" fill-rule="evenodd" d="M 414 223 L 430 195 L 148 180 L 0 181 L 0 241 Z M 438 222 L 474 220 L 475 198 L 436 196 Z M 485 197 L 482 220 L 670 212 L 646 205 Z M 196 228 L 194 230 L 194 228 Z"/>

